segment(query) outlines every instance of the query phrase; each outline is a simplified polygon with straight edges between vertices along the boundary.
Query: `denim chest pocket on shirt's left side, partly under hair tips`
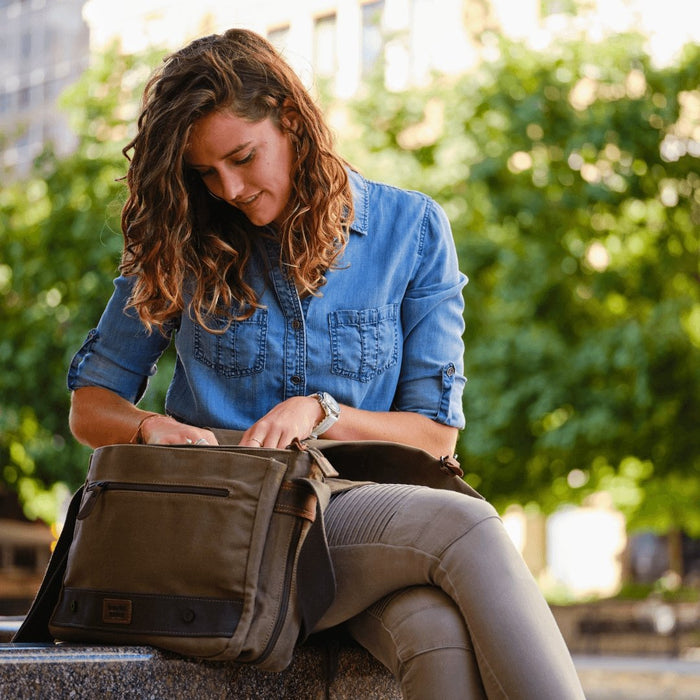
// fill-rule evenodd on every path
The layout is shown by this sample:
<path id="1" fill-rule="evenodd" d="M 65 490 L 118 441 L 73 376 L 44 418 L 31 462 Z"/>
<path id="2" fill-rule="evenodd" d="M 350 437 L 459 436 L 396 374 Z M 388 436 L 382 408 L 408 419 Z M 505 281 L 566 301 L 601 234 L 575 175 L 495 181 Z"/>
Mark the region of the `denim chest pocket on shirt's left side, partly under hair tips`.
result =
<path id="1" fill-rule="evenodd" d="M 223 330 L 225 319 L 214 326 Z M 224 333 L 209 333 L 193 324 L 194 357 L 223 377 L 245 377 L 265 369 L 267 310 L 258 309 L 242 321 L 232 321 Z"/>

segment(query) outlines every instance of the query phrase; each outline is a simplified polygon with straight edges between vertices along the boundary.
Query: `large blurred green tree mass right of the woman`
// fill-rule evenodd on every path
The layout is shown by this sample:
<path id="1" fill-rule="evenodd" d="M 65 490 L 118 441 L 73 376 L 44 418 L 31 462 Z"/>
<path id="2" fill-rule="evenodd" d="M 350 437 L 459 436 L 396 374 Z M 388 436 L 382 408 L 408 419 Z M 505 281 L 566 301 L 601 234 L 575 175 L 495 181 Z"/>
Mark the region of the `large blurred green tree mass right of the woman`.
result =
<path id="1" fill-rule="evenodd" d="M 470 481 L 503 507 L 597 489 L 700 534 L 700 48 L 486 38 L 457 80 L 354 105 L 349 158 L 451 219 L 466 289 Z"/>

